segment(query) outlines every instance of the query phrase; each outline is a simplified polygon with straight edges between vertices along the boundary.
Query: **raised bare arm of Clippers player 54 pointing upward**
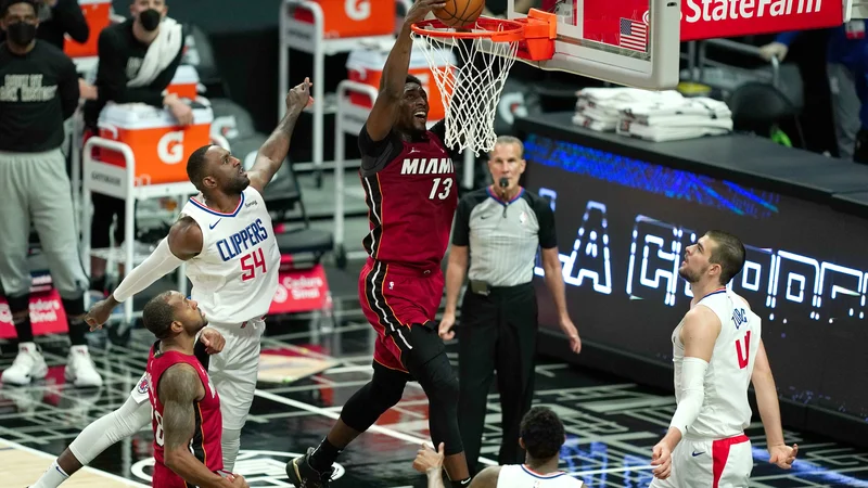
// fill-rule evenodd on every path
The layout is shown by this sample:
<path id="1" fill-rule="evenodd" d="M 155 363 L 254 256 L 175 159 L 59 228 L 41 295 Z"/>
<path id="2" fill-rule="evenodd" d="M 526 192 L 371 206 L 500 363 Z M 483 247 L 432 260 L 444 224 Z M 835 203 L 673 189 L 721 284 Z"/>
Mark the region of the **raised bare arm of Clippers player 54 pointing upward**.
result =
<path id="1" fill-rule="evenodd" d="M 271 178 L 280 169 L 280 165 L 286 159 L 286 154 L 290 152 L 292 132 L 295 130 L 295 123 L 302 112 L 314 104 L 314 99 L 310 98 L 310 79 L 305 78 L 304 82 L 296 85 L 286 93 L 286 115 L 280 120 L 278 127 L 265 141 L 265 144 L 259 147 L 253 168 L 247 172 L 247 177 L 251 179 L 251 187 L 255 188 L 259 193 L 271 182 Z"/>

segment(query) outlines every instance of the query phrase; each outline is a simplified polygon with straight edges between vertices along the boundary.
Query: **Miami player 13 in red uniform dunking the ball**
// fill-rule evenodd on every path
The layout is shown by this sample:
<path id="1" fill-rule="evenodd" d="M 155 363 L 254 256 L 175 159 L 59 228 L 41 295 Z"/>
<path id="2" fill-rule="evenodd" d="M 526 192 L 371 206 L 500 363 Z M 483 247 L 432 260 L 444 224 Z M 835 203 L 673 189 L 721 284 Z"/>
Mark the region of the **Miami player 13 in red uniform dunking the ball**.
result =
<path id="1" fill-rule="evenodd" d="M 328 486 L 339 453 L 400 400 L 411 380 L 427 395 L 431 437 L 445 444 L 449 478 L 456 486 L 470 480 L 458 431 L 458 378 L 435 321 L 444 287 L 441 261 L 458 205 L 456 155 L 444 143 L 443 121 L 426 130 L 427 95 L 408 76 L 410 25 L 442 7 L 443 0 L 418 0 L 407 13 L 359 133 L 371 229 L 359 299 L 378 333 L 373 378 L 347 400 L 319 447 L 286 464 L 295 486 Z"/>

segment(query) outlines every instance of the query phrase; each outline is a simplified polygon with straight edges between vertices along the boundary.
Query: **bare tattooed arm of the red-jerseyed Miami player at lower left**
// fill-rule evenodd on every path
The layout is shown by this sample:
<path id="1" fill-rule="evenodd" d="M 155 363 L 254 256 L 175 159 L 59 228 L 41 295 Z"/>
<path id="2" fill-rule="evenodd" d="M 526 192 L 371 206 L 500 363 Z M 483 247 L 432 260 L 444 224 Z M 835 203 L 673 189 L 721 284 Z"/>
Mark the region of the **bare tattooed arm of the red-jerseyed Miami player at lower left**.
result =
<path id="1" fill-rule="evenodd" d="M 231 481 L 210 472 L 190 452 L 195 431 L 193 402 L 204 395 L 205 387 L 189 364 L 175 364 L 166 370 L 157 387 L 157 397 L 163 403 L 163 433 L 161 438 L 158 423 L 155 440 L 163 444 L 166 467 L 188 484 L 203 488 L 231 487 Z"/>

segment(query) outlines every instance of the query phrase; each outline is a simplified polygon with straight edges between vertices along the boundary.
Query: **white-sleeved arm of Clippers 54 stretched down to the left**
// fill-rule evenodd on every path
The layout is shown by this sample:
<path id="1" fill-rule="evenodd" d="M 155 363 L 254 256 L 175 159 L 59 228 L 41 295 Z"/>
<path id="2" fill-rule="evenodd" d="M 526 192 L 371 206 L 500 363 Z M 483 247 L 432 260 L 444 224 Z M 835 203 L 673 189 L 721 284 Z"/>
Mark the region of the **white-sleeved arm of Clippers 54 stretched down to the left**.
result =
<path id="1" fill-rule="evenodd" d="M 108 320 L 115 307 L 175 271 L 181 262 L 201 252 L 202 229 L 190 217 L 178 219 L 171 226 L 169 235 L 159 242 L 151 256 L 130 271 L 108 298 L 91 307 L 85 316 L 90 330 L 100 329 Z"/>

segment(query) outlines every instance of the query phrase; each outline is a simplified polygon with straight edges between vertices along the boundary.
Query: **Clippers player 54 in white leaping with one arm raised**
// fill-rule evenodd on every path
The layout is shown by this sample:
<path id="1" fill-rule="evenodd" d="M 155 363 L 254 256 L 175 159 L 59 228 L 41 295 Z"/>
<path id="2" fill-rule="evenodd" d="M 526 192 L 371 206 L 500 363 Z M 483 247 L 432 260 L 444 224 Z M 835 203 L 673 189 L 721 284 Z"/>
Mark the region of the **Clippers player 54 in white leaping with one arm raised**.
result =
<path id="1" fill-rule="evenodd" d="M 227 352 L 206 365 L 220 391 L 224 468 L 231 471 L 241 445 L 241 428 L 253 403 L 259 368 L 259 338 L 278 286 L 280 251 L 261 193 L 290 149 L 295 121 L 314 101 L 309 81 L 286 94 L 286 115 L 259 149 L 250 172 L 229 151 L 197 149 L 187 162 L 190 181 L 201 192 L 148 259 L 133 269 L 112 296 L 91 308 L 91 328 L 104 324 L 112 309 L 187 261 L 191 296 L 207 313 L 210 326 L 226 337 Z M 100 452 L 131 436 L 151 421 L 146 376 L 117 410 L 94 421 L 58 458 L 34 488 L 55 488 Z"/>

